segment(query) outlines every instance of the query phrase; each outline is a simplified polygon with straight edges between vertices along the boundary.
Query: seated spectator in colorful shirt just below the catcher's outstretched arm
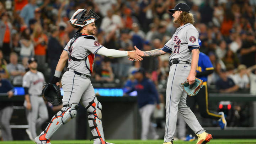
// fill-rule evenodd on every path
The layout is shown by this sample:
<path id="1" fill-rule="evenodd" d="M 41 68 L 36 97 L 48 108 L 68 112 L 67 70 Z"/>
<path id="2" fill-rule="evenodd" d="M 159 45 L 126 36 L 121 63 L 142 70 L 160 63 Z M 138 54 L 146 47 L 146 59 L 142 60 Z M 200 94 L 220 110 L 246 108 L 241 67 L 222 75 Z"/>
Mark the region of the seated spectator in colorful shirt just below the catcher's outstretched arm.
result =
<path id="1" fill-rule="evenodd" d="M 95 80 L 102 82 L 112 82 L 114 80 L 110 61 L 102 62 L 101 69 L 96 71 Z"/>

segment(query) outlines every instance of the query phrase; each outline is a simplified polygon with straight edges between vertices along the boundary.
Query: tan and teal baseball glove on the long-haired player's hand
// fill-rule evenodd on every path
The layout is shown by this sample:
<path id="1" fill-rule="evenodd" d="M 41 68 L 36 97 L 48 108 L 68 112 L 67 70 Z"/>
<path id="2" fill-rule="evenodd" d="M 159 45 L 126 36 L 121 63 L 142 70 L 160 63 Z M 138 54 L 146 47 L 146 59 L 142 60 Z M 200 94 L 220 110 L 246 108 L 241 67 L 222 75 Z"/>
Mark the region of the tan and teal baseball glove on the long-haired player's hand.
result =
<path id="1" fill-rule="evenodd" d="M 189 85 L 187 81 L 182 83 L 182 87 L 188 96 L 195 96 L 203 87 L 203 81 L 201 79 L 196 78 L 195 82 L 192 85 Z"/>

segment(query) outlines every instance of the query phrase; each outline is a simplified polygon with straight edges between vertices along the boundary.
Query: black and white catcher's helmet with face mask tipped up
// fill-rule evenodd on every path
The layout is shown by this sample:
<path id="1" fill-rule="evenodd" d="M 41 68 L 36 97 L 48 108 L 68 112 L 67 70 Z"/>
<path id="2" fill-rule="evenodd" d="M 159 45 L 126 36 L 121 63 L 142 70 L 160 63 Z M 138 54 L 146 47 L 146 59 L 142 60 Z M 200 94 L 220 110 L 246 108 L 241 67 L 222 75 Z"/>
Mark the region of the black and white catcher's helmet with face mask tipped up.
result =
<path id="1" fill-rule="evenodd" d="M 70 18 L 69 23 L 74 28 L 80 28 L 95 22 L 100 18 L 94 11 L 87 9 L 78 9 Z"/>

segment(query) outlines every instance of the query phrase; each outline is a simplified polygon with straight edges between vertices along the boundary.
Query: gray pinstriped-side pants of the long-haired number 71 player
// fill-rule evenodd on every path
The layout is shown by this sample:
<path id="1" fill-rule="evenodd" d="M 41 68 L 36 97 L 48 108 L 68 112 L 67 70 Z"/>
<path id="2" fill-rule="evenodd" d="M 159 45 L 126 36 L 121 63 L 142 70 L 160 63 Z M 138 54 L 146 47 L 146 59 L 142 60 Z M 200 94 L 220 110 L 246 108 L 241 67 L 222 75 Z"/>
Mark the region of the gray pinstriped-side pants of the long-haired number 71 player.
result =
<path id="1" fill-rule="evenodd" d="M 166 89 L 166 126 L 164 142 L 170 142 L 174 139 L 178 112 L 194 133 L 201 134 L 205 131 L 199 124 L 194 113 L 187 106 L 187 94 L 183 91 L 181 85 L 183 82 L 187 81 L 190 69 L 191 66 L 188 64 L 172 64 L 170 66 Z"/>

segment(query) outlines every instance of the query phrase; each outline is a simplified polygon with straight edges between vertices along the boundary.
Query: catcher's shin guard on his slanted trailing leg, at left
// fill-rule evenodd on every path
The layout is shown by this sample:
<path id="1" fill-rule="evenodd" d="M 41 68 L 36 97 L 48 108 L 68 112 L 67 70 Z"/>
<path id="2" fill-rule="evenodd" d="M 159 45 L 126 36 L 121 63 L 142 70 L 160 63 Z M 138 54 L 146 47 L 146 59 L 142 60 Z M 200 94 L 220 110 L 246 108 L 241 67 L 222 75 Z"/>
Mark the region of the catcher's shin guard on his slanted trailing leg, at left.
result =
<path id="1" fill-rule="evenodd" d="M 44 130 L 44 133 L 46 133 L 45 138 L 50 139 L 54 132 L 60 128 L 60 126 L 68 123 L 71 118 L 75 118 L 77 110 L 77 103 L 72 103 L 71 105 L 66 105 L 63 107 L 61 111 L 52 117 L 52 120 L 48 124 L 46 130 Z"/>

